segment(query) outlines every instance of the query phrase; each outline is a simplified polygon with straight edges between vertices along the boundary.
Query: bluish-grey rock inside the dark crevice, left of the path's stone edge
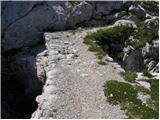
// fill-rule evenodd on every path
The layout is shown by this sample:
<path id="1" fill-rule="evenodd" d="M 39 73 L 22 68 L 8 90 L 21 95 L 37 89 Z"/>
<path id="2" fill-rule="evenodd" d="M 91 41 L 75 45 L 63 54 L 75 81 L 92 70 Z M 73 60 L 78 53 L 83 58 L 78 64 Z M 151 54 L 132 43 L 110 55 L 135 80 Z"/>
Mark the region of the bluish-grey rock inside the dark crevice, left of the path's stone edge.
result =
<path id="1" fill-rule="evenodd" d="M 11 63 L 16 78 L 26 87 L 26 95 L 34 99 L 40 94 L 42 82 L 37 78 L 36 61 L 34 56 L 16 55 Z"/>

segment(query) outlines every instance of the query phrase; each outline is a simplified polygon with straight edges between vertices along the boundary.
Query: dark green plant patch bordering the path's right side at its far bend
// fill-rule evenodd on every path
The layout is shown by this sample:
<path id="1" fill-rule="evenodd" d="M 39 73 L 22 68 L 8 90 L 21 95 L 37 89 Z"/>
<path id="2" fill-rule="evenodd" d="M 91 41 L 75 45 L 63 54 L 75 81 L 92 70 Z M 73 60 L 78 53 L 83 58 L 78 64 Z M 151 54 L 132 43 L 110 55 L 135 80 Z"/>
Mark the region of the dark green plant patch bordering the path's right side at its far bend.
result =
<path id="1" fill-rule="evenodd" d="M 96 56 L 101 60 L 106 55 L 106 51 L 103 48 L 106 44 L 111 45 L 124 43 L 124 41 L 130 36 L 130 33 L 132 31 L 133 28 L 124 25 L 101 29 L 97 32 L 87 35 L 84 38 L 84 43 L 89 45 L 89 50 L 96 52 Z M 111 48 L 112 47 L 110 47 L 110 49 Z M 118 59 L 123 58 L 122 51 L 112 51 Z"/>

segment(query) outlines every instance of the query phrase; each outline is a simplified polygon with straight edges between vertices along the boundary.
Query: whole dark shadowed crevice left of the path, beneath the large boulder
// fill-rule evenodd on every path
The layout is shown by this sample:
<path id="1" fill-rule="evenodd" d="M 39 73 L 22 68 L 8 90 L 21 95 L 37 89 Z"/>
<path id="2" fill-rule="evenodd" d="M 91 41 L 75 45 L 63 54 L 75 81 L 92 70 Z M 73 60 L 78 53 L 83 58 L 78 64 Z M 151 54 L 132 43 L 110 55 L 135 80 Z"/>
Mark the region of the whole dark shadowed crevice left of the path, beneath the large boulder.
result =
<path id="1" fill-rule="evenodd" d="M 45 80 L 37 77 L 36 57 L 44 50 L 46 47 L 41 41 L 26 53 L 17 49 L 2 54 L 2 119 L 28 119 L 38 108 L 35 99 L 42 94 Z"/>

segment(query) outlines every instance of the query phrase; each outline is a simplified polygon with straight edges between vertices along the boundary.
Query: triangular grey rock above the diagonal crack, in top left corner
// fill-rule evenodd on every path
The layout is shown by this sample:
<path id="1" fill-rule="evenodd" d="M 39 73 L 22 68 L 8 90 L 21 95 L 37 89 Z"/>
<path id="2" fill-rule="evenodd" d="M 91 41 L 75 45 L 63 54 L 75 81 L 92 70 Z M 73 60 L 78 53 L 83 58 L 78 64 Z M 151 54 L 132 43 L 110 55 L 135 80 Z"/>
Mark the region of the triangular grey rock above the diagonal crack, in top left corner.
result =
<path id="1" fill-rule="evenodd" d="M 13 24 L 18 19 L 24 17 L 32 11 L 34 5 L 40 4 L 41 2 L 20 2 L 10 1 L 2 2 L 2 32 L 6 30 L 9 25 Z"/>

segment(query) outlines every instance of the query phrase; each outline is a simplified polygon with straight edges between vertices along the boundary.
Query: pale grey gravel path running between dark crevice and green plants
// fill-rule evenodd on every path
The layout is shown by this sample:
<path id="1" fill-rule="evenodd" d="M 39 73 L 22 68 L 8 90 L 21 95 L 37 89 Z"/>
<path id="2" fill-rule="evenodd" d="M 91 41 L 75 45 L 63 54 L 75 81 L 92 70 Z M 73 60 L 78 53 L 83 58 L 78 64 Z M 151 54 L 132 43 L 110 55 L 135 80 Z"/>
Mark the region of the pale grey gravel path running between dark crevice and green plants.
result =
<path id="1" fill-rule="evenodd" d="M 126 118 L 120 107 L 106 101 L 107 80 L 123 81 L 116 63 L 99 65 L 93 52 L 83 44 L 87 30 L 45 33 L 48 50 L 47 80 L 39 107 L 32 118 Z"/>

